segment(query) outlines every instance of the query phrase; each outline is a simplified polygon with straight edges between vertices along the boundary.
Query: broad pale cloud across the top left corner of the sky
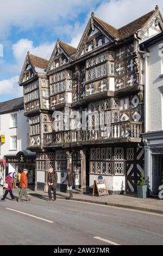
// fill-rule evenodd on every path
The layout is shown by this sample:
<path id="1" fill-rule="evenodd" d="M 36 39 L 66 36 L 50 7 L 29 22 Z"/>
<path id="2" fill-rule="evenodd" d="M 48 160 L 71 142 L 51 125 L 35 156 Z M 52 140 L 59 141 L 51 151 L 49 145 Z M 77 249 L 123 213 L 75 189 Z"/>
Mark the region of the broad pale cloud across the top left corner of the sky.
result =
<path id="1" fill-rule="evenodd" d="M 1 1 L 0 36 L 9 35 L 11 27 L 55 27 L 76 19 L 80 13 L 95 7 L 100 0 L 5 0 Z"/>

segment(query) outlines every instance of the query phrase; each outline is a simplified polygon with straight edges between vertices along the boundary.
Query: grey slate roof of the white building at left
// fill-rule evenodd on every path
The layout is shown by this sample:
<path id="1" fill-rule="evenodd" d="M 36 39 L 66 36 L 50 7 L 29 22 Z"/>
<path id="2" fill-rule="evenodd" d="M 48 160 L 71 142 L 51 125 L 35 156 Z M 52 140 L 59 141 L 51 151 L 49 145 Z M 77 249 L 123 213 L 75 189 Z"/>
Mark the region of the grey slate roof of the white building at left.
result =
<path id="1" fill-rule="evenodd" d="M 0 114 L 17 111 L 18 109 L 23 109 L 23 108 L 24 108 L 23 97 L 0 102 Z"/>

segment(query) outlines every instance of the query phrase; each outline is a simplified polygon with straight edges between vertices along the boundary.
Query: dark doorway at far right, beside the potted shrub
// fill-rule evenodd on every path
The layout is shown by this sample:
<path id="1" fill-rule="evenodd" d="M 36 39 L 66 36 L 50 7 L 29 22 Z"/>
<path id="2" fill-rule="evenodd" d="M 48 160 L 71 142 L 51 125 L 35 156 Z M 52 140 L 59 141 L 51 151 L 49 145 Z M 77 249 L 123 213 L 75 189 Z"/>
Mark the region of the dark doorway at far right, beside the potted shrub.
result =
<path id="1" fill-rule="evenodd" d="M 163 173 L 163 155 L 152 156 L 152 194 L 159 193 Z"/>

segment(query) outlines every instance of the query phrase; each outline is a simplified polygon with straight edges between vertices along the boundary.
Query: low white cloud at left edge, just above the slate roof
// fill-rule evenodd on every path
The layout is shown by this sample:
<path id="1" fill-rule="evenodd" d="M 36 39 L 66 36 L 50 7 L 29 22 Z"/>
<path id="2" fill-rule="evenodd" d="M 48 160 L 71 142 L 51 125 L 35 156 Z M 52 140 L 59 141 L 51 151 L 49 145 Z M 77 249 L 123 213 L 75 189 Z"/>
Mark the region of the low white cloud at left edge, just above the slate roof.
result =
<path id="1" fill-rule="evenodd" d="M 0 81 L 0 96 L 11 94 L 13 97 L 23 96 L 23 89 L 22 87 L 18 86 L 18 76 Z"/>

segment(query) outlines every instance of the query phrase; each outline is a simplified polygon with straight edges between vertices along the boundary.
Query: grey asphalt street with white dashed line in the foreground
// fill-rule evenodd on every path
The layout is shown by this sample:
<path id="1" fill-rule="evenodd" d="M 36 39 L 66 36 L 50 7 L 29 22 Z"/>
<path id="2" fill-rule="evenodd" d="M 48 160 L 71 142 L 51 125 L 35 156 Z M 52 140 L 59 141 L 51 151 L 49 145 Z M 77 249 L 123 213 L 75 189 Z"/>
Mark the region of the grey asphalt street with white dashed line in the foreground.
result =
<path id="1" fill-rule="evenodd" d="M 0 202 L 1 245 L 163 245 L 163 215 L 71 200 Z"/>

